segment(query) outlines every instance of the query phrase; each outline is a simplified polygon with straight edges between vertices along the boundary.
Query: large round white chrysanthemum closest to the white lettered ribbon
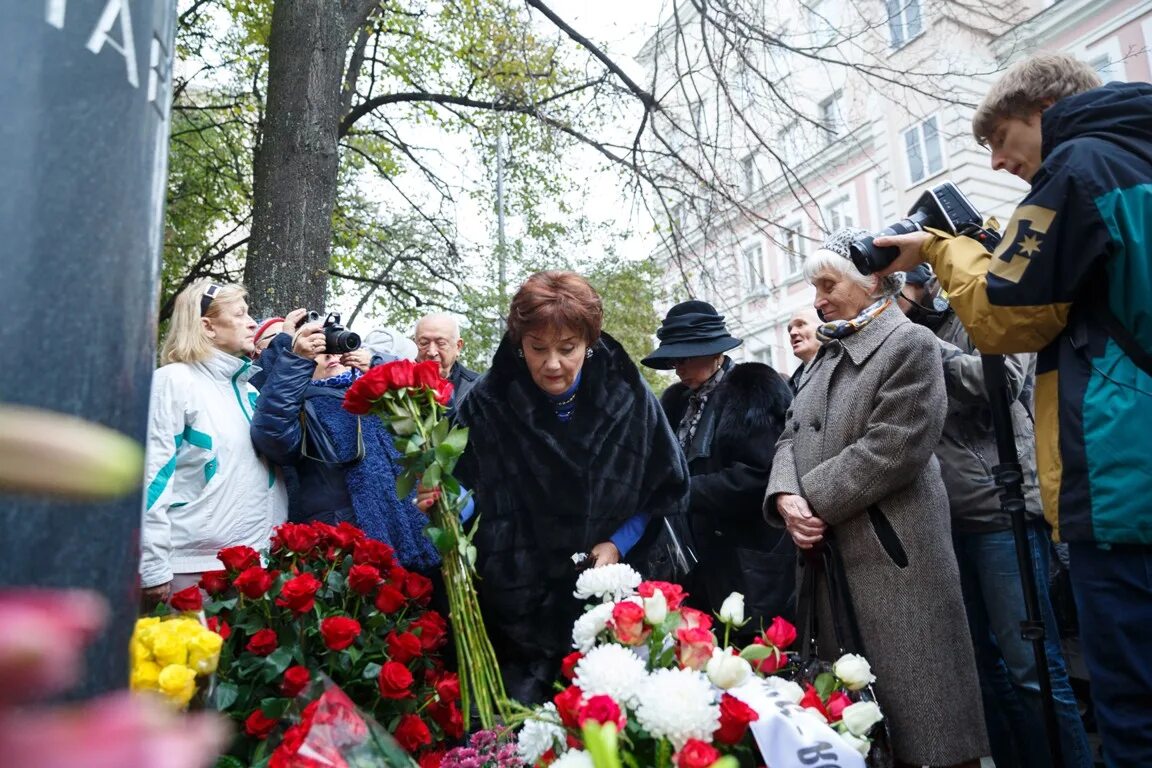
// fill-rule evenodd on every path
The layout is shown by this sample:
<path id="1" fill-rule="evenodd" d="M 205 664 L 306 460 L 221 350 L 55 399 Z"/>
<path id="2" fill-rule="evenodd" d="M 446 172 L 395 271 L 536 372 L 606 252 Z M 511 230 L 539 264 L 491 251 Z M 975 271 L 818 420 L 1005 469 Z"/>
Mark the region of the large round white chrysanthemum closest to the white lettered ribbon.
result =
<path id="1" fill-rule="evenodd" d="M 636 722 L 677 750 L 688 739 L 711 742 L 720 727 L 715 689 L 695 669 L 658 669 L 641 685 Z"/>

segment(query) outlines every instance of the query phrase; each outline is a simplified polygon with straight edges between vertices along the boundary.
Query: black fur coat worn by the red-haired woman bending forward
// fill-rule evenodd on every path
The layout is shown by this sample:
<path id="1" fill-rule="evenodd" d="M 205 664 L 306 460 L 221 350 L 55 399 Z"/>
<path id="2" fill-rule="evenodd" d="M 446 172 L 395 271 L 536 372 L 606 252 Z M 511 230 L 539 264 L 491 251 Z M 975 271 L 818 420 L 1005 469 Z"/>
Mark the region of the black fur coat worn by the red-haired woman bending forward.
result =
<path id="1" fill-rule="evenodd" d="M 611 336 L 592 350 L 568 423 L 507 337 L 458 409 L 469 439 L 456 477 L 476 494 L 480 606 L 508 693 L 525 702 L 551 695 L 571 651 L 582 608 L 573 553 L 638 512 L 659 523 L 687 507 L 688 467 L 655 396 Z"/>

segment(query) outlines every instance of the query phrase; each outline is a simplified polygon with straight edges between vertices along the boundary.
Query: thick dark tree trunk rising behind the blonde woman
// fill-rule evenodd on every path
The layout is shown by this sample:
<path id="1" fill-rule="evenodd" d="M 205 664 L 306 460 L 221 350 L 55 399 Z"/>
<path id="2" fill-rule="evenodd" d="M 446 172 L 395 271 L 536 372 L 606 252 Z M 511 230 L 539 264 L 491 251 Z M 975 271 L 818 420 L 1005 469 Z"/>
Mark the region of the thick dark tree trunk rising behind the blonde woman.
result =
<path id="1" fill-rule="evenodd" d="M 347 50 L 340 0 L 276 0 L 244 266 L 252 317 L 325 309 Z"/>

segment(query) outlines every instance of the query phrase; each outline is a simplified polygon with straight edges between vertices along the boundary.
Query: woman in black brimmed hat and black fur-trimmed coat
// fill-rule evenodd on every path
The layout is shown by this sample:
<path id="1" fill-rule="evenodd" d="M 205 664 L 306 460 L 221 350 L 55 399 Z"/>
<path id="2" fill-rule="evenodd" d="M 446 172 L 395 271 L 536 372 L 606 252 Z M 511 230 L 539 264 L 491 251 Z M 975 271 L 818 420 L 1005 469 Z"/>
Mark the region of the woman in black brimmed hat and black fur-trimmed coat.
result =
<path id="1" fill-rule="evenodd" d="M 717 610 L 740 592 L 751 618 L 745 632 L 756 632 L 791 614 L 795 548 L 760 511 L 791 391 L 771 366 L 737 365 L 725 355 L 742 342 L 706 302 L 668 310 L 657 336 L 660 347 L 642 362 L 680 378 L 660 404 L 691 474 L 689 517 L 700 560 L 694 598 Z"/>

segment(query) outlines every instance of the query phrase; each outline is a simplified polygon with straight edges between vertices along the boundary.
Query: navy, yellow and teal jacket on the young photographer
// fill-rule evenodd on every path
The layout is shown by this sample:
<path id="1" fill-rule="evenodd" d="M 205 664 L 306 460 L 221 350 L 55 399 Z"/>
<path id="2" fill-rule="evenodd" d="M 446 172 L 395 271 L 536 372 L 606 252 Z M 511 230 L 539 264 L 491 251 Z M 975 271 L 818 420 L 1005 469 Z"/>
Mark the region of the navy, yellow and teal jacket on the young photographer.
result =
<path id="1" fill-rule="evenodd" d="M 980 350 L 1039 352 L 1037 459 L 1059 538 L 1152 545 L 1152 377 L 1093 309 L 1152 351 L 1152 85 L 1061 99 L 1041 132 L 995 252 L 937 237 L 924 256 Z"/>

